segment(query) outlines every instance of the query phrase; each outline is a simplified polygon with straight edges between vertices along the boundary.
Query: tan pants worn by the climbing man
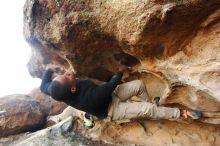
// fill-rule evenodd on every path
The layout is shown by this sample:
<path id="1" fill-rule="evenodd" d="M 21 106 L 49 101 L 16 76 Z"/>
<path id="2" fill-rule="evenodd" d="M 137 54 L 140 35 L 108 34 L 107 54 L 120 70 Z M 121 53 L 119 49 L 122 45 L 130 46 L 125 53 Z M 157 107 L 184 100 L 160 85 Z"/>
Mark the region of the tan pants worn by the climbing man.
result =
<path id="1" fill-rule="evenodd" d="M 139 101 L 130 100 L 133 96 L 138 97 Z M 112 98 L 108 118 L 113 121 L 136 118 L 177 119 L 180 116 L 178 108 L 162 107 L 151 103 L 142 80 L 134 80 L 118 85 Z"/>

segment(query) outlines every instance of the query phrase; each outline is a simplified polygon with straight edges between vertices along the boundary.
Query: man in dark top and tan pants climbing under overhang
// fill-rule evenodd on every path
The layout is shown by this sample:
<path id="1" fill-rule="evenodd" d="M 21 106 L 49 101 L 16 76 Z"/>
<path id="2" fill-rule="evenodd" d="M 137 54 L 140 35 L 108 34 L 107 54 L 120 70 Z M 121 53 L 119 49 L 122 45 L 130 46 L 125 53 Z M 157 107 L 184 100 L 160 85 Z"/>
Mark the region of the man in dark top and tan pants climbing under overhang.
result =
<path id="1" fill-rule="evenodd" d="M 108 82 L 97 85 L 91 80 L 78 79 L 73 73 L 59 73 L 59 68 L 50 68 L 43 74 L 40 89 L 53 99 L 86 112 L 87 120 L 90 120 L 90 115 L 113 121 L 136 118 L 198 119 L 201 117 L 201 112 L 198 111 L 158 106 L 155 103 L 158 103 L 160 98 L 157 97 L 154 99 L 156 102 L 152 102 L 142 80 L 119 84 L 125 70 L 126 67 L 120 67 Z M 138 97 L 139 101 L 130 100 L 133 96 Z"/>

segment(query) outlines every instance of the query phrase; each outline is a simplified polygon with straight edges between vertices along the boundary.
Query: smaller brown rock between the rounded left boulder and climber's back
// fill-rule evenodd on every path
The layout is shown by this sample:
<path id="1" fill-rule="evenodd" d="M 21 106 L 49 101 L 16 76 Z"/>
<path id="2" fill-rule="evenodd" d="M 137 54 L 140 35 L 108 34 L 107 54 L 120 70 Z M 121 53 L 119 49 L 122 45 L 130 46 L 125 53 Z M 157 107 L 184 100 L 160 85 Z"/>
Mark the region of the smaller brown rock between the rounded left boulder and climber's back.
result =
<path id="1" fill-rule="evenodd" d="M 29 96 L 33 97 L 40 103 L 43 113 L 46 115 L 57 115 L 63 112 L 67 105 L 63 102 L 58 102 L 50 96 L 42 93 L 39 88 L 33 89 Z"/>

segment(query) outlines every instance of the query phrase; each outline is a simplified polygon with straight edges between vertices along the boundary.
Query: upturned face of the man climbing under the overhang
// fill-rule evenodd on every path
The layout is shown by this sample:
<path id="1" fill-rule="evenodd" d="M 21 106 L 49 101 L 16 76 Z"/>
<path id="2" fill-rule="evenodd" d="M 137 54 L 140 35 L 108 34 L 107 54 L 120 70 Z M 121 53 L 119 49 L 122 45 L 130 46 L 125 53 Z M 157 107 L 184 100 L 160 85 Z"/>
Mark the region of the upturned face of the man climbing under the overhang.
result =
<path id="1" fill-rule="evenodd" d="M 58 81 L 62 85 L 68 85 L 69 87 L 76 87 L 76 78 L 73 73 L 65 72 L 64 74 L 57 74 L 53 79 Z"/>

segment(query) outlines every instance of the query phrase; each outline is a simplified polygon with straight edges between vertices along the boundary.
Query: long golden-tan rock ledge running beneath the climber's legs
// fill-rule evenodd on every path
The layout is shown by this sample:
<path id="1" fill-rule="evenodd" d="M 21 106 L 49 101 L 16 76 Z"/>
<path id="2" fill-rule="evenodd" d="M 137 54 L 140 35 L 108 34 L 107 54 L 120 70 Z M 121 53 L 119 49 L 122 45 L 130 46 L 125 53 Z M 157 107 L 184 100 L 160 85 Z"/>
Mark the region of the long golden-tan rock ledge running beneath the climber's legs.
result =
<path id="1" fill-rule="evenodd" d="M 152 145 L 152 146 L 192 146 L 220 144 L 220 126 L 199 122 L 170 122 L 166 120 L 136 120 L 129 122 L 104 122 L 95 120 L 95 127 L 83 127 L 84 113 L 72 107 L 66 108 L 61 114 L 51 116 L 49 121 L 57 123 L 70 116 L 80 117 L 74 122 L 73 131 L 80 133 L 94 141 L 100 139 L 113 145 Z"/>

